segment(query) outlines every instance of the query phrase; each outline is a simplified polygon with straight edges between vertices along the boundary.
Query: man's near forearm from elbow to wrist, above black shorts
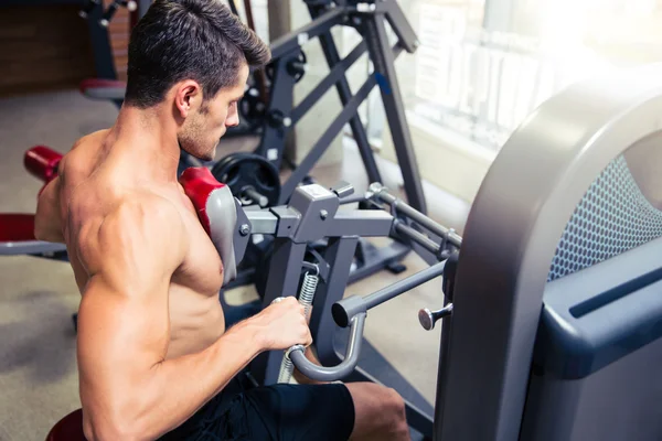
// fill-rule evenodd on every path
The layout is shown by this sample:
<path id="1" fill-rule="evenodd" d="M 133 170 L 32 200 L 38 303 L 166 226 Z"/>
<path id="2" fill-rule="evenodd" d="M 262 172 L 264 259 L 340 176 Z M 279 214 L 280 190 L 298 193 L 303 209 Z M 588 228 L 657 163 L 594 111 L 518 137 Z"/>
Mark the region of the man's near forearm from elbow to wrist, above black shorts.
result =
<path id="1" fill-rule="evenodd" d="M 95 439 L 116 438 L 153 440 L 186 421 L 218 394 L 263 346 L 259 325 L 247 320 L 228 330 L 206 349 L 160 362 L 137 381 L 132 399 L 118 404 L 128 413 L 111 428 L 92 417 Z M 139 384 L 138 384 L 139 383 Z M 102 429 L 104 434 L 99 433 Z M 106 430 L 103 430 L 106 429 Z M 125 432 L 126 431 L 126 432 Z M 128 433 L 127 433 L 128 432 Z"/>

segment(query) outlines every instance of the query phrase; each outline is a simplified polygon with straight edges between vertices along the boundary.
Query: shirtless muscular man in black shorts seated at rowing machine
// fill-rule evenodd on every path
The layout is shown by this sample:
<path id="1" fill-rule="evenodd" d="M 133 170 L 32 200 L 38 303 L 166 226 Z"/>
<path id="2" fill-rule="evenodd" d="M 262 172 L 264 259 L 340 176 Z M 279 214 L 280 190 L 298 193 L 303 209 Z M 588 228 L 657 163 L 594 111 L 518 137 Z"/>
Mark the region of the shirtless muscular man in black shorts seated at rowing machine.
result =
<path id="1" fill-rule="evenodd" d="M 243 390 L 259 353 L 311 343 L 292 297 L 225 332 L 223 262 L 178 183 L 180 147 L 211 160 L 268 47 L 217 0 L 156 0 L 135 28 L 117 121 L 81 139 L 39 198 L 82 293 L 83 429 L 99 440 L 406 440 L 375 384 Z M 232 240 L 232 238 L 228 238 Z"/>

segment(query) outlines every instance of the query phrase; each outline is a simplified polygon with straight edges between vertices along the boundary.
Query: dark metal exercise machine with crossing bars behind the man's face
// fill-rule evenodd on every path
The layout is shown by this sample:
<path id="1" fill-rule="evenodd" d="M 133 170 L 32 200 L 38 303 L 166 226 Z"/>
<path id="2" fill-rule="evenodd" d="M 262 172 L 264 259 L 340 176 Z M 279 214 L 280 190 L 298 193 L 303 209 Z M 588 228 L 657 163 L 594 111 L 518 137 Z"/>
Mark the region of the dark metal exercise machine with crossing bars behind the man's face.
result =
<path id="1" fill-rule="evenodd" d="M 312 21 L 306 26 L 279 37 L 271 44 L 273 61 L 264 72 L 268 78 L 269 90 L 261 90 L 264 83 L 257 82 L 258 85 L 249 87 L 248 94 L 246 94 L 246 103 L 250 108 L 246 111 L 246 115 L 250 115 L 250 117 L 246 119 L 249 119 L 252 125 L 261 126 L 263 131 L 255 153 L 266 158 L 277 169 L 280 169 L 285 155 L 285 137 L 332 87 L 337 88 L 343 110 L 322 133 L 303 161 L 296 165 L 291 178 L 282 184 L 278 203 L 282 204 L 289 200 L 296 186 L 308 176 L 331 140 L 346 123 L 350 125 L 356 140 L 369 182 L 382 182 L 365 128 L 357 114 L 359 106 L 365 100 L 370 92 L 378 86 L 386 109 L 388 126 L 393 132 L 398 164 L 403 169 L 407 201 L 412 206 L 425 213 L 425 196 L 394 67 L 395 60 L 403 51 L 414 53 L 418 47 L 419 42 L 414 30 L 395 0 L 378 2 L 305 0 L 305 2 L 308 6 Z M 90 4 L 96 3 L 98 1 L 90 1 Z M 99 22 L 107 25 L 113 14 L 121 6 L 129 7 L 134 11 L 131 17 L 139 18 L 141 13 L 147 11 L 149 3 L 148 0 L 137 2 L 116 0 L 104 12 Z M 229 1 L 229 4 L 233 11 L 236 12 L 234 2 Z M 100 6 L 96 7 L 96 9 L 98 8 Z M 249 13 L 248 17 L 250 18 L 252 14 Z M 249 22 L 252 21 L 250 18 Z M 397 36 L 397 41 L 393 46 L 388 40 L 386 23 L 389 24 L 391 30 Z M 342 60 L 331 34 L 331 30 L 335 26 L 353 28 L 363 36 L 363 41 Z M 296 83 L 303 77 L 307 69 L 303 46 L 318 37 L 330 73 L 297 107 L 293 107 L 292 89 Z M 365 53 L 369 54 L 374 71 L 369 75 L 359 92 L 353 95 L 346 78 L 346 72 Z M 99 87 L 99 89 L 102 88 L 104 87 Z M 114 99 L 120 99 L 124 97 L 124 93 L 120 92 L 122 92 L 121 88 L 113 88 L 107 90 L 106 95 L 103 95 L 103 90 L 95 90 L 95 93 L 102 94 L 95 95 L 95 97 L 106 99 L 115 94 Z M 268 97 L 268 103 L 263 103 L 266 107 L 261 108 L 252 104 L 255 103 L 255 100 L 252 100 L 255 97 Z M 235 193 L 238 194 L 238 192 Z"/>

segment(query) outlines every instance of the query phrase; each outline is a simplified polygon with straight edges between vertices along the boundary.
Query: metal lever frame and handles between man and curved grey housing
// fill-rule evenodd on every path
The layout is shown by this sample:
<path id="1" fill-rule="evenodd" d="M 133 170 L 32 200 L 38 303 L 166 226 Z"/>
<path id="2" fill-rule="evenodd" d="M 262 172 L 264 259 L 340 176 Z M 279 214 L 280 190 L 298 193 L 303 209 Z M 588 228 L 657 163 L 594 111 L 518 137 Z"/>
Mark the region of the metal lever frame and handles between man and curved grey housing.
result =
<path id="1" fill-rule="evenodd" d="M 334 367 L 310 364 L 303 356 L 302 346 L 295 346 L 288 351 L 291 362 L 303 375 L 313 379 L 342 378 L 345 381 L 389 383 L 388 386 L 394 387 L 405 398 L 409 426 L 419 433 L 431 437 L 433 408 L 367 341 L 363 340 L 363 324 L 369 309 L 408 291 L 416 284 L 441 276 L 449 258 L 452 257 L 450 261 L 456 261 L 461 238 L 452 229 L 445 228 L 398 200 L 378 183 L 372 184 L 367 194 L 362 196 L 371 208 L 342 209 L 341 201 L 352 193 L 352 186 L 346 183 L 330 190 L 318 184 L 302 185 L 295 191 L 287 206 L 238 209 L 234 233 L 235 256 L 239 261 L 252 234 L 275 237 L 275 251 L 263 306 L 281 295 L 306 292 L 306 280 L 311 277 L 313 268 L 312 272 L 319 281 L 316 280 L 314 283 L 317 289 L 309 292 L 308 301 L 313 306 L 310 330 L 316 342 L 318 359 L 325 366 Z M 384 207 L 388 209 L 382 209 Z M 430 239 L 417 228 L 419 225 L 442 239 L 439 243 Z M 391 236 L 406 243 L 417 243 L 435 256 L 437 263 L 365 300 L 342 300 L 359 237 L 376 236 Z M 309 244 L 321 238 L 329 241 L 324 252 L 316 259 L 306 260 Z M 307 272 L 303 280 L 302 271 Z M 301 297 L 299 299 L 301 300 Z M 446 310 L 451 308 L 447 306 Z M 429 320 L 445 313 L 420 312 L 421 318 L 430 318 Z M 337 330 L 334 321 L 343 327 Z M 250 374 L 258 384 L 277 383 L 282 375 L 282 357 L 281 352 L 260 354 L 253 362 Z M 378 361 L 378 366 L 375 359 Z"/>

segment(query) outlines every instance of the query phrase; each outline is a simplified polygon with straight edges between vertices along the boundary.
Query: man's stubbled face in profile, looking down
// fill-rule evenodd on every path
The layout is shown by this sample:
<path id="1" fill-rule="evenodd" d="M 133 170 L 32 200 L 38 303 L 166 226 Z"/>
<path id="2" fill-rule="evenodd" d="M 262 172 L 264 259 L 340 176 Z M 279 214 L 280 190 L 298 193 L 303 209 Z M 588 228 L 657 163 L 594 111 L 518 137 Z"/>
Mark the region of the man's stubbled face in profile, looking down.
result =
<path id="1" fill-rule="evenodd" d="M 248 66 L 243 65 L 235 86 L 218 90 L 215 97 L 204 100 L 186 117 L 179 136 L 185 152 L 205 161 L 215 158 L 221 137 L 228 127 L 239 123 L 238 101 L 244 96 L 247 80 Z"/>

